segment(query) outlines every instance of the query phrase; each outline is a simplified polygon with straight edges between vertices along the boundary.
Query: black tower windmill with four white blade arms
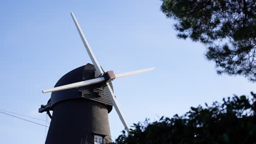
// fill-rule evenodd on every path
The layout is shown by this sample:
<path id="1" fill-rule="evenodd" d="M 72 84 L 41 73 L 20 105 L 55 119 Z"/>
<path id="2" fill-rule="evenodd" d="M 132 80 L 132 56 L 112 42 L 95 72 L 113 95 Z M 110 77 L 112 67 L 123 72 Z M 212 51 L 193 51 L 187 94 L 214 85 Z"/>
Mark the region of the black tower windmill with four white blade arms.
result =
<path id="1" fill-rule="evenodd" d="M 73 13 L 71 16 L 92 64 L 88 63 L 70 71 L 61 77 L 54 88 L 43 90 L 43 93 L 52 92 L 48 103 L 41 105 L 39 109 L 39 112 L 46 111 L 52 118 L 45 143 L 75 143 L 74 141 L 78 137 L 80 137 L 81 143 L 85 141 L 101 143 L 104 140 L 109 142 L 111 137 L 107 115 L 112 110 L 112 106 L 129 134 L 129 126 L 117 103 L 111 81 L 154 68 L 122 74 L 114 74 L 113 71 L 104 72 L 77 19 Z M 51 116 L 50 110 L 53 110 L 53 116 Z"/>

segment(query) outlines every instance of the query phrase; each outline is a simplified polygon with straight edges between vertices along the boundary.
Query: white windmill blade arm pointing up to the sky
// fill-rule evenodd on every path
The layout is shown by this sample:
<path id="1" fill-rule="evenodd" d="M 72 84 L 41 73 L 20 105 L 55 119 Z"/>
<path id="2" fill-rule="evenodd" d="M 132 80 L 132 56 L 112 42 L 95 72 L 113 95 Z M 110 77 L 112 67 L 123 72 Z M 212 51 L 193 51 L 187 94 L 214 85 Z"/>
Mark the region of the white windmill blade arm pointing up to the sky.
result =
<path id="1" fill-rule="evenodd" d="M 89 43 L 88 43 L 87 39 L 85 38 L 85 35 L 84 35 L 83 31 L 82 31 L 82 28 L 80 27 L 80 25 L 79 25 L 79 23 L 78 23 L 78 21 L 75 18 L 73 13 L 71 13 L 71 16 L 72 16 L 72 19 L 73 19 L 73 21 L 75 23 L 75 27 L 77 27 L 78 33 L 79 33 L 79 35 L 80 35 L 80 37 L 81 37 L 81 39 L 82 39 L 82 41 L 84 43 L 85 49 L 88 52 L 88 55 L 90 56 L 92 63 L 94 64 L 94 67 L 95 67 L 95 69 L 97 71 L 97 74 L 98 75 L 103 74 L 104 72 L 101 69 L 100 64 L 98 63 L 98 61 L 97 61 L 97 59 L 96 59 L 96 57 L 94 55 L 94 52 L 92 52 L 91 47 L 90 47 L 90 45 L 89 45 Z"/>

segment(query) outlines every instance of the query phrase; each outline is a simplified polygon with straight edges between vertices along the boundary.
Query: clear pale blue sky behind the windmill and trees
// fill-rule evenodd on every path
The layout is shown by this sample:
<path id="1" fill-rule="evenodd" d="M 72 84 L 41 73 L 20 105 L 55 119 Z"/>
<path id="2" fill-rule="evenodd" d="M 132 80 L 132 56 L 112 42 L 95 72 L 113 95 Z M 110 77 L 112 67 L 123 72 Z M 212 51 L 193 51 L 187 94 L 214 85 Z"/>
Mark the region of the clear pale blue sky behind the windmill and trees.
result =
<path id="1" fill-rule="evenodd" d="M 0 109 L 45 119 L 45 113 L 37 111 L 50 94 L 42 94 L 42 89 L 91 63 L 71 11 L 104 70 L 156 68 L 113 82 L 130 125 L 255 92 L 255 84 L 244 77 L 217 75 L 214 63 L 203 55 L 202 44 L 177 39 L 173 21 L 161 13 L 160 5 L 159 0 L 1 1 Z M 114 140 L 124 128 L 115 111 L 109 114 L 109 122 Z M 44 127 L 2 113 L 0 129 L 1 143 L 43 144 L 45 140 Z"/>

